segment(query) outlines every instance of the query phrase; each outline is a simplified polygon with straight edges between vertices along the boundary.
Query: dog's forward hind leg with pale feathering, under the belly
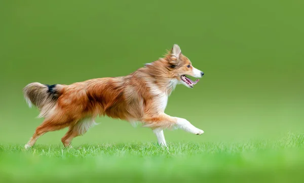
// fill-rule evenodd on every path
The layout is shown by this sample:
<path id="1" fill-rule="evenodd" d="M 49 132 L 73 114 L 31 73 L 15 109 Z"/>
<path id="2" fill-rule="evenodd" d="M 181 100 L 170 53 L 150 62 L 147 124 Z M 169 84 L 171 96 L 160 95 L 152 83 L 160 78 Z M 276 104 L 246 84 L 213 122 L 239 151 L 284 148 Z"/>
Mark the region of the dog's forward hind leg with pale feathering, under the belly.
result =
<path id="1" fill-rule="evenodd" d="M 84 118 L 76 124 L 71 125 L 66 134 L 61 138 L 64 147 L 69 146 L 73 138 L 85 134 L 94 125 L 96 123 L 93 118 Z"/>

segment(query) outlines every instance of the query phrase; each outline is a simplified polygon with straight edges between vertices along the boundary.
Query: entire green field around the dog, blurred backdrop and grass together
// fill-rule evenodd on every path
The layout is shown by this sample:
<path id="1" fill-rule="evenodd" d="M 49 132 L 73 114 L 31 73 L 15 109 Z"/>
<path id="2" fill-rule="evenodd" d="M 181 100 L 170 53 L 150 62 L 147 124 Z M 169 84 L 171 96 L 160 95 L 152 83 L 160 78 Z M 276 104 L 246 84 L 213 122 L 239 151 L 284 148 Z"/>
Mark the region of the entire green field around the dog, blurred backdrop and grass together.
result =
<path id="1" fill-rule="evenodd" d="M 1 182 L 304 182 L 303 1 L 39 1 L 0 3 Z M 67 129 L 33 149 L 43 119 L 31 82 L 125 76 L 178 44 L 204 71 L 177 86 L 166 113 L 205 131 L 153 132 L 97 118 L 63 149 Z M 3 181 L 4 180 L 4 181 Z"/>

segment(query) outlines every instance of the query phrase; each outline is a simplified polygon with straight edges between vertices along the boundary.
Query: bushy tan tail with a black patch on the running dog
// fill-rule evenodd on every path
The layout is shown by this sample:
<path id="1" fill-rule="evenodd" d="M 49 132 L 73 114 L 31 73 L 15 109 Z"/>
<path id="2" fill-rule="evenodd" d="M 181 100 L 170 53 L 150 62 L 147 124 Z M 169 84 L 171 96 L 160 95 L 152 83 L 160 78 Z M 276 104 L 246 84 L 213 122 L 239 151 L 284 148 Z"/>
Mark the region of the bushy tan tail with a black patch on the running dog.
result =
<path id="1" fill-rule="evenodd" d="M 38 118 L 46 117 L 48 112 L 55 106 L 62 94 L 64 85 L 44 85 L 30 83 L 23 88 L 24 98 L 29 107 L 35 105 L 40 110 Z"/>

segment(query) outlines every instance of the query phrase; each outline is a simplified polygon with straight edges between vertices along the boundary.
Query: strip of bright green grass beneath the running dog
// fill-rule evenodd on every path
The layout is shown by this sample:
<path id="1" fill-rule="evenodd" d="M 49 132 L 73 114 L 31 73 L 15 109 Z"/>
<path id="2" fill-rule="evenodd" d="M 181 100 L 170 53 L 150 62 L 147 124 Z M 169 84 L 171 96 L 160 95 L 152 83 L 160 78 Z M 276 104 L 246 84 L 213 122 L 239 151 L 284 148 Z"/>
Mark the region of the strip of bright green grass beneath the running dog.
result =
<path id="1" fill-rule="evenodd" d="M 0 145 L 4 182 L 301 182 L 304 135 L 238 143 Z"/>

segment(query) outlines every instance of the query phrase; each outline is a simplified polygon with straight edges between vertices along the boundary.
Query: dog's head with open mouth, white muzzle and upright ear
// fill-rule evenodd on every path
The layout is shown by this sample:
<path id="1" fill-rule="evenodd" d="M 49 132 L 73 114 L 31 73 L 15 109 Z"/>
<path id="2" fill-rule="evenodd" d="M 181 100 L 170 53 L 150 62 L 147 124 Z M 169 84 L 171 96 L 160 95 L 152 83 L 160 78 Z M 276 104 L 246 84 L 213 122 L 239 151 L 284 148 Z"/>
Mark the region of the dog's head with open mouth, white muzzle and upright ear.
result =
<path id="1" fill-rule="evenodd" d="M 171 76 L 179 81 L 180 84 L 183 84 L 188 88 L 193 88 L 199 80 L 192 81 L 187 78 L 186 75 L 195 78 L 202 78 L 204 76 L 204 72 L 195 68 L 191 61 L 181 54 L 181 50 L 178 45 L 173 45 L 170 53 L 166 56 L 166 60 L 169 63 Z"/>

